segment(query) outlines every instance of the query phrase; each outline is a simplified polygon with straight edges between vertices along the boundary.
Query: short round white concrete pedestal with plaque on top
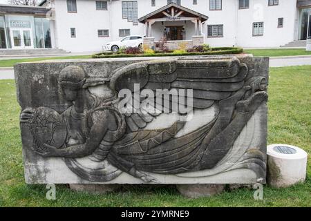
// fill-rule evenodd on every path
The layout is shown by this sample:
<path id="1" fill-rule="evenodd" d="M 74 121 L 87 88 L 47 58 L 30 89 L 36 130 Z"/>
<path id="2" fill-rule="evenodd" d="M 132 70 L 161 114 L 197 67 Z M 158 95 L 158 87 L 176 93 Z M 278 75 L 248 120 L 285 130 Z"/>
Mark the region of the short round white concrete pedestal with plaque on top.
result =
<path id="1" fill-rule="evenodd" d="M 296 146 L 267 146 L 267 183 L 281 188 L 305 181 L 307 157 L 308 154 Z"/>

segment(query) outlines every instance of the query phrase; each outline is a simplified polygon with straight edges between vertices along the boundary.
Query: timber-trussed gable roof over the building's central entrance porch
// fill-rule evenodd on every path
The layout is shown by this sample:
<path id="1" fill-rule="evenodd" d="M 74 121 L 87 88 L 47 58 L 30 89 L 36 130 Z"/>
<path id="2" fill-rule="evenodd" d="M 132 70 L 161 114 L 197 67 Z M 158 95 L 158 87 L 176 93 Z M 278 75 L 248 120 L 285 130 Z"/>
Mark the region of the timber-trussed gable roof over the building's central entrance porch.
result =
<path id="1" fill-rule="evenodd" d="M 185 8 L 183 6 L 178 6 L 176 3 L 170 3 L 167 6 L 159 8 L 158 10 L 155 10 L 154 12 L 151 12 L 148 15 L 141 17 L 140 19 L 138 19 L 138 21 L 141 23 L 145 23 L 148 19 L 161 19 L 165 17 L 173 17 L 173 15 L 169 15 L 171 14 L 172 8 L 174 11 L 177 10 L 175 18 L 179 16 L 178 14 L 180 14 L 182 15 L 182 17 L 198 17 L 200 18 L 201 21 L 206 21 L 207 19 L 209 19 L 209 17 L 207 17 L 206 15 L 202 15 L 199 12 L 196 12 L 189 8 Z"/>

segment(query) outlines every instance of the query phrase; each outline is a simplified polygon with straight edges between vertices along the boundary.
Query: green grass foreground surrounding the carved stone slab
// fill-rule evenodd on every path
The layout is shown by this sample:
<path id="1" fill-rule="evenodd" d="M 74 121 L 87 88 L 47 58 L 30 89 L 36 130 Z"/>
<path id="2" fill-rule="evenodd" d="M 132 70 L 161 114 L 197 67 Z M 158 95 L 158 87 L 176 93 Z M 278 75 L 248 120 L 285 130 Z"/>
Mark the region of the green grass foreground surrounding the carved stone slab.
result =
<path id="1" fill-rule="evenodd" d="M 268 142 L 301 146 L 308 152 L 308 175 L 288 189 L 225 191 L 213 198 L 183 198 L 173 186 L 127 186 L 118 193 L 89 195 L 57 185 L 57 200 L 45 198 L 46 186 L 23 180 L 19 106 L 15 82 L 0 81 L 0 206 L 311 206 L 311 66 L 272 68 L 269 86 Z"/>

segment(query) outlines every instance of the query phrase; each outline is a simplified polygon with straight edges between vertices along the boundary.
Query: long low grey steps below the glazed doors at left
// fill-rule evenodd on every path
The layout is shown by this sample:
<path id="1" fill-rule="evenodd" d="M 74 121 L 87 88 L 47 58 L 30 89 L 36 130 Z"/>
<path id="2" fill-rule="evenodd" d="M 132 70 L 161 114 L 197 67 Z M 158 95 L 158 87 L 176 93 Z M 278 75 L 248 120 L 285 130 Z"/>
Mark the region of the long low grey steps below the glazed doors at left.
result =
<path id="1" fill-rule="evenodd" d="M 5 56 L 34 56 L 34 55 L 64 55 L 66 50 L 60 48 L 34 48 L 34 49 L 0 49 L 0 57 Z"/>

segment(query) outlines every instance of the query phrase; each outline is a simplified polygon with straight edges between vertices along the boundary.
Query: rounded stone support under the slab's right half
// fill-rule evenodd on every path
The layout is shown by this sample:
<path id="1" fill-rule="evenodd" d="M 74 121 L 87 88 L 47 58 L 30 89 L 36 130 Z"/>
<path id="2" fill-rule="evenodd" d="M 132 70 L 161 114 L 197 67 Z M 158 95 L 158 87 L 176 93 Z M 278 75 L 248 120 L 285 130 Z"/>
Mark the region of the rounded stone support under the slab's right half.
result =
<path id="1" fill-rule="evenodd" d="M 222 193 L 225 184 L 179 184 L 176 188 L 187 198 L 202 198 Z"/>

